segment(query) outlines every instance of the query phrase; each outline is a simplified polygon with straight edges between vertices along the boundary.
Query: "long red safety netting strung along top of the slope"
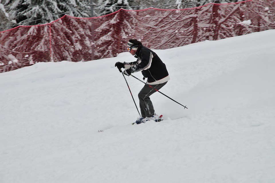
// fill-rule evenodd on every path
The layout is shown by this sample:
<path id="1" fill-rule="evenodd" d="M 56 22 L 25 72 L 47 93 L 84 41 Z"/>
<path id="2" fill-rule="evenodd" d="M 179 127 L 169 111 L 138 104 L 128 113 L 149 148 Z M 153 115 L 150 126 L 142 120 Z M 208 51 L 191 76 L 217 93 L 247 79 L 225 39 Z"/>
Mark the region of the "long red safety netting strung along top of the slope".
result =
<path id="1" fill-rule="evenodd" d="M 0 72 L 36 62 L 90 61 L 126 51 L 131 38 L 167 49 L 275 28 L 275 1 L 248 0 L 190 9 L 125 10 L 0 32 Z"/>

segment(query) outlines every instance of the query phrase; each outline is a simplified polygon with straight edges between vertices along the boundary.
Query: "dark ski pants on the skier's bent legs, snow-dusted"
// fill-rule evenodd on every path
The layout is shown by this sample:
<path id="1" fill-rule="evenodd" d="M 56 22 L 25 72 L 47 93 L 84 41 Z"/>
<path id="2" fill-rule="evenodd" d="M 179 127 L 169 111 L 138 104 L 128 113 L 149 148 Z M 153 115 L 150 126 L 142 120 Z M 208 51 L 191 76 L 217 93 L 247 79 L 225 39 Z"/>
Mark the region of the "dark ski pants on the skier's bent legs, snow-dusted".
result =
<path id="1" fill-rule="evenodd" d="M 167 82 L 168 81 L 166 81 L 165 83 L 151 85 L 151 86 L 153 88 L 159 90 L 164 85 L 166 85 Z M 148 85 L 144 85 L 144 87 L 140 90 L 140 92 L 138 94 L 138 98 L 140 100 L 140 112 L 141 112 L 141 116 L 143 118 L 154 116 L 155 110 L 154 110 L 154 106 L 150 100 L 150 96 L 156 92 L 156 90 L 153 88 L 151 88 Z"/>

